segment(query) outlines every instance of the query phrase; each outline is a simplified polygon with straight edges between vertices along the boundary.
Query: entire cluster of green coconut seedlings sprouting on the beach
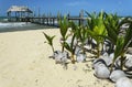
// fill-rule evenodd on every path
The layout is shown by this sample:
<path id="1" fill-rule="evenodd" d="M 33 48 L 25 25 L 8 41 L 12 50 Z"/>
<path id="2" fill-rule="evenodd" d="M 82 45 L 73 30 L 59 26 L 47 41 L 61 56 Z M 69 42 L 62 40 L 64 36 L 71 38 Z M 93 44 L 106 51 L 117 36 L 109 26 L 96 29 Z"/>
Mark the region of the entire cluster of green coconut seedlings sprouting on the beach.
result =
<path id="1" fill-rule="evenodd" d="M 129 18 L 121 19 L 117 13 L 110 14 L 103 11 L 99 13 L 86 13 L 88 17 L 86 25 L 77 25 L 75 22 L 68 21 L 66 17 L 62 18 L 58 15 L 62 52 L 55 52 L 57 54 L 57 59 L 61 53 L 67 51 L 70 53 L 70 58 L 65 56 L 65 61 L 70 59 L 73 64 L 77 61 L 82 61 L 82 57 L 86 57 L 84 55 L 87 53 L 85 45 L 89 44 L 88 41 L 90 41 L 91 44 L 96 41 L 96 47 L 91 47 L 91 50 L 96 50 L 96 57 L 98 59 L 96 62 L 97 66 L 101 63 L 98 67 L 101 69 L 103 66 L 108 70 L 107 77 L 109 77 L 109 70 L 112 72 L 113 68 L 116 68 L 117 59 L 120 62 L 120 69 L 123 69 L 124 62 L 127 61 L 124 54 L 132 43 L 132 21 L 130 21 Z M 129 28 L 121 29 L 125 23 L 129 24 Z M 125 34 L 121 32 L 122 30 Z M 54 53 L 53 39 L 55 36 L 48 36 L 44 32 L 43 34 Z M 109 54 L 107 54 L 107 51 L 103 51 L 103 45 L 106 45 L 105 42 L 110 43 Z M 61 59 L 63 56 L 64 54 L 61 54 Z M 81 58 L 77 59 L 77 57 Z M 100 75 L 103 74 L 105 70 L 100 72 Z"/>

